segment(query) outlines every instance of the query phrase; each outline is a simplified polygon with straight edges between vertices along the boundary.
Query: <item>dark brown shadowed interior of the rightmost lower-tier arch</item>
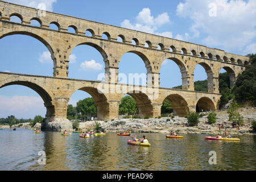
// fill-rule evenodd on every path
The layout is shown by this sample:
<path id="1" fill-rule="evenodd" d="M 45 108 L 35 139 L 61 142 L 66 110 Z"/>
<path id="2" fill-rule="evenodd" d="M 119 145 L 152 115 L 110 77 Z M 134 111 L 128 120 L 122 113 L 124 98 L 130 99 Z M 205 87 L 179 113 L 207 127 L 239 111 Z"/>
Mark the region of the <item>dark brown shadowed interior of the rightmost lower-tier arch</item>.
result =
<path id="1" fill-rule="evenodd" d="M 214 102 L 209 97 L 201 97 L 196 101 L 196 111 L 213 111 L 216 110 Z"/>

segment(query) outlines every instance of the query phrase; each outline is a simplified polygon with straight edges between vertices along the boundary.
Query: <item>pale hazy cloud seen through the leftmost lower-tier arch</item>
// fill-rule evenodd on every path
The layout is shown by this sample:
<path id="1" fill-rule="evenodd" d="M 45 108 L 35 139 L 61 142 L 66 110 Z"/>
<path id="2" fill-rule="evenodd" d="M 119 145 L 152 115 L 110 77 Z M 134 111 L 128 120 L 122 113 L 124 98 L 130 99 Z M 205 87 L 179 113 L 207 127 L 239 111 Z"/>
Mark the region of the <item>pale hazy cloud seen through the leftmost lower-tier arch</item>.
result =
<path id="1" fill-rule="evenodd" d="M 40 97 L 34 96 L 0 96 L 0 113 L 1 117 L 15 115 L 16 118 L 34 118 L 35 115 L 46 114 L 44 101 Z"/>

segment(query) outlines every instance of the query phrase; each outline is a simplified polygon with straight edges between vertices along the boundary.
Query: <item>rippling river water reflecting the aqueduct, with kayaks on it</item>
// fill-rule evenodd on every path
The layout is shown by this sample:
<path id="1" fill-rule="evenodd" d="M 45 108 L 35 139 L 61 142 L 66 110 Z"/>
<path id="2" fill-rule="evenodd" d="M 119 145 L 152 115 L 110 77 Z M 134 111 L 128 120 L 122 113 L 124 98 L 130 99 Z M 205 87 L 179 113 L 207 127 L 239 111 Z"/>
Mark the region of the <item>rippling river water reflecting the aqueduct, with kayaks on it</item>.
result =
<path id="1" fill-rule="evenodd" d="M 205 140 L 203 134 L 183 134 L 184 139 L 137 135 L 149 137 L 151 147 L 130 146 L 130 137 L 115 133 L 80 138 L 76 133 L 0 130 L 0 170 L 256 170 L 256 136 L 226 142 Z M 46 152 L 46 165 L 38 164 L 39 151 Z M 216 165 L 208 163 L 209 151 L 216 151 Z"/>

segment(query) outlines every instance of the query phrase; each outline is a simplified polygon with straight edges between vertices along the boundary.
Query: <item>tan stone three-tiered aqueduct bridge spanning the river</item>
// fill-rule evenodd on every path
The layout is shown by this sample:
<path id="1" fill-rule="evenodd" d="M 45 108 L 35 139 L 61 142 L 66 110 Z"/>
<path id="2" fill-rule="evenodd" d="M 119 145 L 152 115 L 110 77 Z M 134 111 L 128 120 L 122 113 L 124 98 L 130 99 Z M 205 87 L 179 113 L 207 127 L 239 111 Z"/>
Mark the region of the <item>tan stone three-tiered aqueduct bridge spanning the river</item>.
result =
<path id="1" fill-rule="evenodd" d="M 8 85 L 24 85 L 35 90 L 47 107 L 47 118 L 66 118 L 69 98 L 76 90 L 88 92 L 96 101 L 98 119 L 118 117 L 121 98 L 130 94 L 137 102 L 143 116 L 157 117 L 163 100 L 167 98 L 175 114 L 188 111 L 216 110 L 221 97 L 218 90 L 218 74 L 224 68 L 233 85 L 236 77 L 249 64 L 245 56 L 234 55 L 220 49 L 199 44 L 164 38 L 162 36 L 111 26 L 51 12 L 42 12 L 0 1 L 0 39 L 14 34 L 32 36 L 42 42 L 51 52 L 53 77 L 21 75 L 0 72 L 0 88 Z M 10 22 L 11 16 L 18 16 L 22 23 Z M 40 27 L 31 26 L 37 20 Z M 49 29 L 56 24 L 59 30 Z M 67 32 L 72 27 L 75 33 Z M 90 31 L 92 36 L 85 35 Z M 102 39 L 102 34 L 108 39 Z M 122 42 L 117 41 L 117 37 Z M 135 45 L 131 44 L 134 40 Z M 148 47 L 144 44 L 147 43 Z M 75 80 L 68 78 L 69 55 L 79 45 L 96 48 L 105 62 L 105 84 L 99 81 Z M 160 49 L 158 49 L 158 46 Z M 137 54 L 147 69 L 147 86 L 118 84 L 118 65 L 127 52 Z M 159 71 L 164 60 L 175 61 L 182 76 L 182 90 L 159 88 Z M 194 91 L 193 73 L 197 64 L 204 67 L 208 76 L 208 92 Z M 150 89 L 152 86 L 152 89 Z M 98 92 L 98 89 L 105 92 Z"/>

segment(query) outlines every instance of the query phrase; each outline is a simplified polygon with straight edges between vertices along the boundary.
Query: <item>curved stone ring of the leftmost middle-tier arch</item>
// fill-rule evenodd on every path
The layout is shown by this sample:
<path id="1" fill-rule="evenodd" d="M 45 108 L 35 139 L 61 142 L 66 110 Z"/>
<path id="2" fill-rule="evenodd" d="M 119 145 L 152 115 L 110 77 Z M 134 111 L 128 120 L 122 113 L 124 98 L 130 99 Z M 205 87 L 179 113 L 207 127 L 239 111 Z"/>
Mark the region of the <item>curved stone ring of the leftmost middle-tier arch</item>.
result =
<path id="1" fill-rule="evenodd" d="M 56 67 L 56 58 L 54 55 L 54 51 L 53 51 L 53 47 L 48 43 L 48 41 L 44 38 L 42 38 L 42 36 L 40 35 L 36 35 L 32 32 L 28 32 L 28 31 L 4 31 L 3 34 L 0 34 L 0 40 L 6 36 L 10 36 L 10 35 L 27 35 L 27 36 L 31 36 L 32 38 L 35 38 L 37 40 L 39 40 L 40 42 L 42 42 L 44 44 L 44 46 L 47 47 L 47 49 L 49 50 L 49 52 L 51 53 L 51 58 L 53 60 L 53 67 Z"/>

